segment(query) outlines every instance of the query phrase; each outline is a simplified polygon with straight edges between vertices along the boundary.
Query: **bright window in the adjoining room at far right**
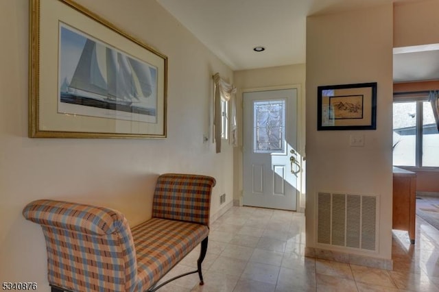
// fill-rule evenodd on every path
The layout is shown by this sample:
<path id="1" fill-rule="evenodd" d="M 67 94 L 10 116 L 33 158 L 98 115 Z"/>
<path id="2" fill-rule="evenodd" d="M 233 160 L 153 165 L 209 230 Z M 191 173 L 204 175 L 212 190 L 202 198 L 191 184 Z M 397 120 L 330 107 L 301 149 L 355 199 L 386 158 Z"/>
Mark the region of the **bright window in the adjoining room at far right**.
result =
<path id="1" fill-rule="evenodd" d="M 393 165 L 439 167 L 439 132 L 425 99 L 393 103 Z"/>

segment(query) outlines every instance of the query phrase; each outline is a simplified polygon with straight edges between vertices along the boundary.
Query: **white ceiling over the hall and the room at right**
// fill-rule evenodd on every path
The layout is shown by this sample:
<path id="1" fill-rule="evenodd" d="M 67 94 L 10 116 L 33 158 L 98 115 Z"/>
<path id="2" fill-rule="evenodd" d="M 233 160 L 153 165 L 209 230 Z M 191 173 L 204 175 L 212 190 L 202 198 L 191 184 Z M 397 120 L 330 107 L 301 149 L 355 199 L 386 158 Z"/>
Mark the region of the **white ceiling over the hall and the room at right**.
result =
<path id="1" fill-rule="evenodd" d="M 219 59 L 239 71 L 305 63 L 309 15 L 407 0 L 157 1 Z M 257 46 L 265 51 L 253 51 Z M 394 81 L 439 79 L 438 49 L 419 52 L 412 47 L 396 53 Z"/>

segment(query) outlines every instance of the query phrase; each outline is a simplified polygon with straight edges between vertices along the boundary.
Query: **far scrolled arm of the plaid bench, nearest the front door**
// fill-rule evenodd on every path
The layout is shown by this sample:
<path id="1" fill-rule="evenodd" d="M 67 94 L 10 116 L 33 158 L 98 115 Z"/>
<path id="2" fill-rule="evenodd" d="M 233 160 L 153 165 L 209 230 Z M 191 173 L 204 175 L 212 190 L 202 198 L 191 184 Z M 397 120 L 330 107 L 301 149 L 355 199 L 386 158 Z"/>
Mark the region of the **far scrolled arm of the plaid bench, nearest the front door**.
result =
<path id="1" fill-rule="evenodd" d="M 209 226 L 215 179 L 205 175 L 166 173 L 156 183 L 152 217 Z"/>

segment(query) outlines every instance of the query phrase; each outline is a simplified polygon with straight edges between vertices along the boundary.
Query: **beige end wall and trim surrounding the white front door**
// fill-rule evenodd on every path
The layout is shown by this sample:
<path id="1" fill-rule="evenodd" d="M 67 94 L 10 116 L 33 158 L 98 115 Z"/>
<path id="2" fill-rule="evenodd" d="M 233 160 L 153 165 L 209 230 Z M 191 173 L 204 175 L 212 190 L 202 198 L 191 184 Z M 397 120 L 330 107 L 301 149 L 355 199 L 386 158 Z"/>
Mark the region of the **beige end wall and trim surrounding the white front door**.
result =
<path id="1" fill-rule="evenodd" d="M 305 152 L 305 64 L 296 64 L 289 66 L 277 66 L 264 69 L 252 69 L 235 71 L 235 86 L 239 88 L 237 94 L 237 121 L 239 129 L 243 126 L 242 117 L 242 94 L 245 91 L 261 89 L 278 89 L 296 86 L 298 88 L 298 151 L 300 155 Z M 239 131 L 239 147 L 235 148 L 235 204 L 242 201 L 242 131 Z M 303 174 L 302 196 L 297 204 L 298 210 L 305 208 L 305 172 Z"/>

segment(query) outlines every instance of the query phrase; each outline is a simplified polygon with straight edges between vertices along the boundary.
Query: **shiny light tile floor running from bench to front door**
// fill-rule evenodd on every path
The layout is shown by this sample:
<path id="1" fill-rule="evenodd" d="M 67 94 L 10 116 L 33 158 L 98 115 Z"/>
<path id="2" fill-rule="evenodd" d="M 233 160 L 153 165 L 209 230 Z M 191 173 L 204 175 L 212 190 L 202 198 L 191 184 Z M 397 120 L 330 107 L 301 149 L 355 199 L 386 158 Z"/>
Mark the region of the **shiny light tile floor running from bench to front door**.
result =
<path id="1" fill-rule="evenodd" d="M 233 207 L 211 224 L 203 263 L 158 291 L 438 291 L 439 231 L 416 217 L 416 244 L 393 232 L 393 271 L 305 258 L 301 213 Z M 195 249 L 163 280 L 196 269 Z"/>

